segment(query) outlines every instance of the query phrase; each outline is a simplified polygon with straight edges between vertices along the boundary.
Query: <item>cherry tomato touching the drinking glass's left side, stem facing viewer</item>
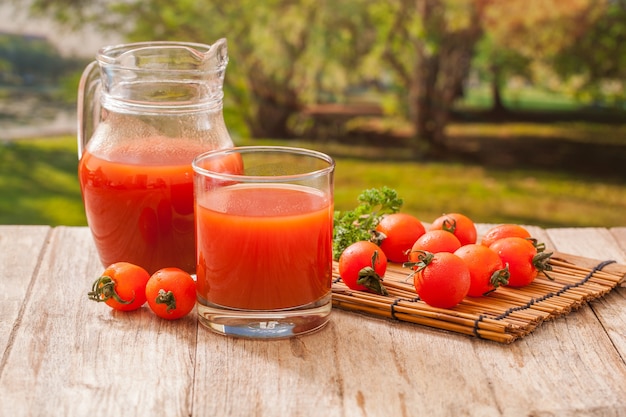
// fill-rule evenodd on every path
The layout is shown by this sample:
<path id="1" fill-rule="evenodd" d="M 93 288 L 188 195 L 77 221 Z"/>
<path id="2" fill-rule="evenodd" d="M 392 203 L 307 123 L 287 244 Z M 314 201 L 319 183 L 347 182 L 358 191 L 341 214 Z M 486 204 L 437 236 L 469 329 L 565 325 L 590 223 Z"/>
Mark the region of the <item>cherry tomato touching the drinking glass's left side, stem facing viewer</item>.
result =
<path id="1" fill-rule="evenodd" d="M 157 316 L 179 319 L 196 305 L 196 281 L 179 268 L 159 269 L 148 280 L 146 298 Z"/>

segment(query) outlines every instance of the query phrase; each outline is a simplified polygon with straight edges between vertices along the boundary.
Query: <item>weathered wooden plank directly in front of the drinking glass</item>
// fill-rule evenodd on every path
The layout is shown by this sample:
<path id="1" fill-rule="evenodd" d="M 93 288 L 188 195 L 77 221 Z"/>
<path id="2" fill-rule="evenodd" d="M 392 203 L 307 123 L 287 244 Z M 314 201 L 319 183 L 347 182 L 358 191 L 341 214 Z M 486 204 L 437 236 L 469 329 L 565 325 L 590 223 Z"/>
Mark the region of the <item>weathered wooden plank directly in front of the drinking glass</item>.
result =
<path id="1" fill-rule="evenodd" d="M 498 415 L 457 334 L 334 310 L 327 328 L 288 341 L 198 340 L 194 410 L 207 415 Z"/>

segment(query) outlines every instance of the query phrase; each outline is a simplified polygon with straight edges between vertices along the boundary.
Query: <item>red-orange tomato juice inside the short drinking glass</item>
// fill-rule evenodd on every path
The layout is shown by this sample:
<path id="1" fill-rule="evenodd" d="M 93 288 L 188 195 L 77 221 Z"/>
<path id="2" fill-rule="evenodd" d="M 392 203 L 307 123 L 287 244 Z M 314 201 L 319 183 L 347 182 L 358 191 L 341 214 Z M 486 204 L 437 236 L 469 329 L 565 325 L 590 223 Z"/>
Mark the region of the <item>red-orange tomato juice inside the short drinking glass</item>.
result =
<path id="1" fill-rule="evenodd" d="M 274 310 L 310 304 L 330 292 L 333 207 L 324 194 L 235 185 L 199 200 L 200 300 Z"/>

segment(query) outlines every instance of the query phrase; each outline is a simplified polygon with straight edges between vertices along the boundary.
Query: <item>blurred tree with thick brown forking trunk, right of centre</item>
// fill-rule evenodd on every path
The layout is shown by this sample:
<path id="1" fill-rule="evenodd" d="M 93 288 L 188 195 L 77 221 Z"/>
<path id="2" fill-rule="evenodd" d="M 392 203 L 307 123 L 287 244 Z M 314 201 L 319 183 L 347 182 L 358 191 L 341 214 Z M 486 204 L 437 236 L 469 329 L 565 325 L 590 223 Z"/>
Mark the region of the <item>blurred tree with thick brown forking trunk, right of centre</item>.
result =
<path id="1" fill-rule="evenodd" d="M 418 153 L 444 151 L 450 109 L 462 94 L 489 0 L 393 0 L 372 6 L 376 52 L 406 89 Z"/>

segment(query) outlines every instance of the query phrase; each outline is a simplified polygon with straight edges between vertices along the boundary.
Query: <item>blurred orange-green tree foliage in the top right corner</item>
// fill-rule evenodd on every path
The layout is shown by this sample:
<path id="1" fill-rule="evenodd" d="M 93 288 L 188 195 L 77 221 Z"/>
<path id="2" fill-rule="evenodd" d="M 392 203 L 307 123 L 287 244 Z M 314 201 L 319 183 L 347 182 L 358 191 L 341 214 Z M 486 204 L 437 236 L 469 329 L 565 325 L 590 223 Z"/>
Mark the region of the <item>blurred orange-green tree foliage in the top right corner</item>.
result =
<path id="1" fill-rule="evenodd" d="M 598 74 L 598 67 L 623 62 L 626 50 L 616 48 L 619 38 L 611 39 L 616 32 L 626 35 L 624 0 L 620 2 L 621 22 L 616 13 L 619 2 L 612 0 L 493 2 L 483 16 L 485 36 L 474 60 L 475 68 L 491 81 L 493 110 L 505 110 L 501 90 L 512 76 L 563 92 L 567 78 L 580 80 L 586 71 L 591 85 L 607 75 Z M 605 45 L 615 44 L 598 54 L 600 39 Z M 582 84 L 578 82 L 576 88 Z"/>

